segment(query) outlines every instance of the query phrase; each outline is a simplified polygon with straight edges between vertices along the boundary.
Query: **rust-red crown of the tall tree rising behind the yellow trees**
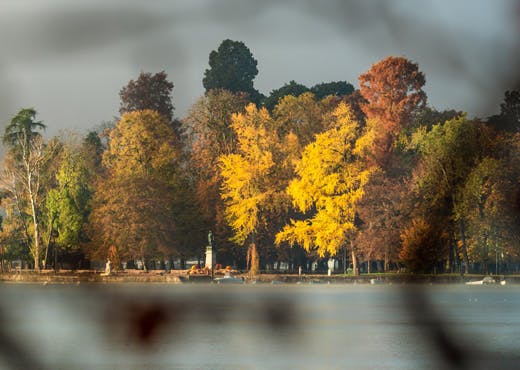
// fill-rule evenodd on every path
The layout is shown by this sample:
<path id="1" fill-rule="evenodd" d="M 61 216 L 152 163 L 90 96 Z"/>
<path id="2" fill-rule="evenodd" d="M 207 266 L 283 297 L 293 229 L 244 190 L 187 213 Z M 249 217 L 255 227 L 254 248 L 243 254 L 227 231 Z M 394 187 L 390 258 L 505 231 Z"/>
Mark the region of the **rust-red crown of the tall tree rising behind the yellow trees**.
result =
<path id="1" fill-rule="evenodd" d="M 419 66 L 404 57 L 387 57 L 359 76 L 361 108 L 376 130 L 373 157 L 383 169 L 399 133 L 426 104 L 424 83 Z"/>

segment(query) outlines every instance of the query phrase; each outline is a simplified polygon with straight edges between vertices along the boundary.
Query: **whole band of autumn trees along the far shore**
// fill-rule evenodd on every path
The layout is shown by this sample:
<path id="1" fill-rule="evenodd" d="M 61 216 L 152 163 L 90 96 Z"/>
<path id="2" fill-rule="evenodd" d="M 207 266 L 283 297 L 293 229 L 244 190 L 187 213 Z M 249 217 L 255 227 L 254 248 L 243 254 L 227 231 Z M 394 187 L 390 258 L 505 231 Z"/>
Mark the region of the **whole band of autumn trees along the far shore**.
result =
<path id="1" fill-rule="evenodd" d="M 428 106 L 425 76 L 388 57 L 359 76 L 264 96 L 257 62 L 225 40 L 206 92 L 174 116 L 167 74 L 120 91 L 120 118 L 44 140 L 34 109 L 7 124 L 5 261 L 34 269 L 202 258 L 353 271 L 511 272 L 520 240 L 520 93 L 486 119 Z M 346 267 L 346 266 L 345 266 Z"/>

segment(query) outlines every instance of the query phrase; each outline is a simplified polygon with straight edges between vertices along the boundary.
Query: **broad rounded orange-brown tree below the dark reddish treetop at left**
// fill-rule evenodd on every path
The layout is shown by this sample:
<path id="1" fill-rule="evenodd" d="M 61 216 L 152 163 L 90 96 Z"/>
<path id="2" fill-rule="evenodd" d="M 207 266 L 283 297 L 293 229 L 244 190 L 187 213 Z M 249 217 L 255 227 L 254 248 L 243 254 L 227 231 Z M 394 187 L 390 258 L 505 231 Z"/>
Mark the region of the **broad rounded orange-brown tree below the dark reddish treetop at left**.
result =
<path id="1" fill-rule="evenodd" d="M 110 133 L 90 215 L 97 250 L 146 261 L 175 246 L 172 207 L 178 143 L 168 120 L 151 111 L 125 113 Z M 95 253 L 97 252 L 97 253 Z"/>

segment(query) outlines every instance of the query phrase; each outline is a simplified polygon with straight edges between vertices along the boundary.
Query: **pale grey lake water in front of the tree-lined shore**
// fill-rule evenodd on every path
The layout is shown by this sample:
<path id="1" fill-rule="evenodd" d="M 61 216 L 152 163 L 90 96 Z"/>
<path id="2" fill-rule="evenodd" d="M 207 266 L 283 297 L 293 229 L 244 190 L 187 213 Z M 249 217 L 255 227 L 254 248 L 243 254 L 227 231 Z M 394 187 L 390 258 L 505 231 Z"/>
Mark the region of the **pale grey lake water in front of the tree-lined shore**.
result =
<path id="1" fill-rule="evenodd" d="M 520 286 L 0 285 L 0 369 L 517 368 Z"/>

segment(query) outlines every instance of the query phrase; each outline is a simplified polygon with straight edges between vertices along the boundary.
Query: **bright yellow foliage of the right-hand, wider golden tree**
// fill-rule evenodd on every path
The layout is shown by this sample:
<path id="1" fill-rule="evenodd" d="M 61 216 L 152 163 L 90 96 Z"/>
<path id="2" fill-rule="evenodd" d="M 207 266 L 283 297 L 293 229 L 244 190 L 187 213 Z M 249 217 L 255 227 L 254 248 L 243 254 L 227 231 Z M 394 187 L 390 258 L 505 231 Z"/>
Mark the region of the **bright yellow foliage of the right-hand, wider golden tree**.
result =
<path id="1" fill-rule="evenodd" d="M 306 214 L 291 220 L 276 243 L 299 244 L 320 256 L 335 255 L 355 230 L 356 203 L 373 169 L 363 160 L 371 145 L 348 105 L 340 103 L 331 115 L 331 129 L 316 135 L 297 163 L 297 178 L 287 192 L 294 206 Z"/>

